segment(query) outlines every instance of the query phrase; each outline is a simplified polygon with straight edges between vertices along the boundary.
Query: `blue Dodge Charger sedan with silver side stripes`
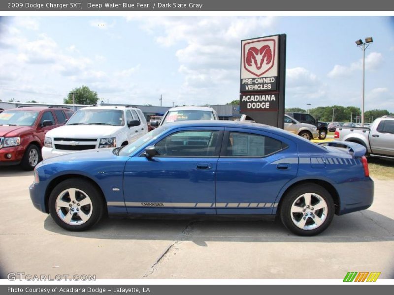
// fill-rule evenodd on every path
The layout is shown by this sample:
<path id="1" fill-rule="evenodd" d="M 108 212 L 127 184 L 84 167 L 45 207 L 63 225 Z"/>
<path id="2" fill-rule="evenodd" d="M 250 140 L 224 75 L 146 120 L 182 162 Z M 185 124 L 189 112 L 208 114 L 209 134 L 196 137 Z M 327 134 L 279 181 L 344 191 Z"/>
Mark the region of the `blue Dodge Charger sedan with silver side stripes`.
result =
<path id="1" fill-rule="evenodd" d="M 277 217 L 296 235 L 313 236 L 334 214 L 371 206 L 364 154 L 356 143 L 317 145 L 256 123 L 171 123 L 122 148 L 41 162 L 30 195 L 70 231 L 103 214 L 210 214 Z"/>

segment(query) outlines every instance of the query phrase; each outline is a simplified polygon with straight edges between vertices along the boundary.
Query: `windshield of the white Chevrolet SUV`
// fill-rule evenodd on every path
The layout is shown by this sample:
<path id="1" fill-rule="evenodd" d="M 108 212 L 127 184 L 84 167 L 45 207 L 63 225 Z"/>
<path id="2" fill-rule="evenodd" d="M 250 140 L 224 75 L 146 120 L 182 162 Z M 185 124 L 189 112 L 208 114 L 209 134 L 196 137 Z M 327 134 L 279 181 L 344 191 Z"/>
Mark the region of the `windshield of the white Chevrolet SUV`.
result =
<path id="1" fill-rule="evenodd" d="M 112 125 L 123 126 L 124 118 L 121 110 L 78 110 L 67 122 L 67 125 Z"/>

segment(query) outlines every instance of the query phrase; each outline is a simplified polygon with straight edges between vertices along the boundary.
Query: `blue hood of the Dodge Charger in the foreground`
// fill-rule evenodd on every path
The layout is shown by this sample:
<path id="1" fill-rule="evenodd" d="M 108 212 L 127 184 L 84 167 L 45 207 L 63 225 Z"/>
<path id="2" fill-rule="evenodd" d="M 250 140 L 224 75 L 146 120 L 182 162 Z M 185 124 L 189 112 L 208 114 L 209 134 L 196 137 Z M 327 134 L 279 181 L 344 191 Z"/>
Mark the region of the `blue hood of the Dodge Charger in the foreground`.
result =
<path id="1" fill-rule="evenodd" d="M 100 161 L 100 160 L 110 160 L 118 158 L 112 152 L 113 148 L 99 148 L 99 149 L 87 149 L 81 151 L 70 152 L 55 157 L 48 158 L 41 162 L 41 165 L 59 163 L 59 162 L 74 162 L 74 161 Z M 40 166 L 41 166 L 40 165 Z"/>

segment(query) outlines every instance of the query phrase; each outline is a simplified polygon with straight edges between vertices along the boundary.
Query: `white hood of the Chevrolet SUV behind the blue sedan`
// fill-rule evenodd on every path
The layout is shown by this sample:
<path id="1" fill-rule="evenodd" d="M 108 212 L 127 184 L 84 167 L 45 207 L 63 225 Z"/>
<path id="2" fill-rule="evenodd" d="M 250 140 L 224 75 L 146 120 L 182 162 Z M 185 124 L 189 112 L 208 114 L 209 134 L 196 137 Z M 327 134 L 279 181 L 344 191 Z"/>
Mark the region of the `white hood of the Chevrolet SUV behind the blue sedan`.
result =
<path id="1" fill-rule="evenodd" d="M 64 125 L 46 133 L 47 137 L 60 138 L 104 138 L 115 136 L 123 126 Z"/>

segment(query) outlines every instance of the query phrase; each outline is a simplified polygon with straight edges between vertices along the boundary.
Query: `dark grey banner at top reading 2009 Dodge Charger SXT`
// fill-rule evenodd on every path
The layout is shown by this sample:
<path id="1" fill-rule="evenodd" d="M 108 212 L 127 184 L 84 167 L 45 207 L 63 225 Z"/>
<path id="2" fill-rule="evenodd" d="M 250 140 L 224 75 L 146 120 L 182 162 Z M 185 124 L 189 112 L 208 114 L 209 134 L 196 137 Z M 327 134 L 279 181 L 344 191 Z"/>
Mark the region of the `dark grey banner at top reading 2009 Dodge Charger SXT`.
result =
<path id="1" fill-rule="evenodd" d="M 3 0 L 2 11 L 390 11 L 388 0 Z"/>

